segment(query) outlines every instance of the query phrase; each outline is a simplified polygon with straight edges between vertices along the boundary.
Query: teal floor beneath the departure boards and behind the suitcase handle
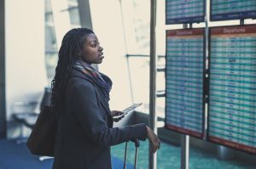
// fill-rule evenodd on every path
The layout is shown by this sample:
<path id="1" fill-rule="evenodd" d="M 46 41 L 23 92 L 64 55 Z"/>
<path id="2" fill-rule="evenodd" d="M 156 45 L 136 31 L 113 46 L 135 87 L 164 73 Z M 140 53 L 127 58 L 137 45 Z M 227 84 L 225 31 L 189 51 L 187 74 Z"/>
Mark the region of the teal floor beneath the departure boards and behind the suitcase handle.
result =
<path id="1" fill-rule="evenodd" d="M 180 147 L 171 144 L 161 143 L 158 150 L 158 169 L 180 169 Z M 112 155 L 124 158 L 125 144 L 119 144 L 112 147 Z M 135 147 L 129 142 L 128 162 L 133 164 Z M 220 161 L 216 155 L 207 154 L 200 149 L 190 149 L 189 169 L 256 169 L 256 162 L 239 161 L 233 159 L 230 161 Z M 256 161 L 256 156 L 255 156 Z M 141 142 L 138 153 L 138 168 L 148 168 L 148 141 Z"/>

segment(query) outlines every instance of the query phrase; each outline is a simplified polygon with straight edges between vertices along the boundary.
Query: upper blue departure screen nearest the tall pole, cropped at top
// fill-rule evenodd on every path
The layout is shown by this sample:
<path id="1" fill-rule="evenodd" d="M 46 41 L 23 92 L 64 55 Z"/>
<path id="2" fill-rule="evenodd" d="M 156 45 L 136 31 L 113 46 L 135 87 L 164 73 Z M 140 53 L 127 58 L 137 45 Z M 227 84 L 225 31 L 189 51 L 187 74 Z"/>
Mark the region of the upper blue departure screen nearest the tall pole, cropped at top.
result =
<path id="1" fill-rule="evenodd" d="M 205 0 L 166 0 L 166 25 L 204 21 Z"/>

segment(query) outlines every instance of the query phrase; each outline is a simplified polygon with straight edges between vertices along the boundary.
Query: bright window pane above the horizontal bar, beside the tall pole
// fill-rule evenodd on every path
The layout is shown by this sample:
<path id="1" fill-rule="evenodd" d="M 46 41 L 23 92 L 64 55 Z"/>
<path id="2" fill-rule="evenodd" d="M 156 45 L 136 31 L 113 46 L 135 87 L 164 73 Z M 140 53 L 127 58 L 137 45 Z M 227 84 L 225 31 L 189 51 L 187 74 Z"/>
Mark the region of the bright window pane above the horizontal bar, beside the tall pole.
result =
<path id="1" fill-rule="evenodd" d="M 127 54 L 149 54 L 150 2 L 121 1 Z"/>

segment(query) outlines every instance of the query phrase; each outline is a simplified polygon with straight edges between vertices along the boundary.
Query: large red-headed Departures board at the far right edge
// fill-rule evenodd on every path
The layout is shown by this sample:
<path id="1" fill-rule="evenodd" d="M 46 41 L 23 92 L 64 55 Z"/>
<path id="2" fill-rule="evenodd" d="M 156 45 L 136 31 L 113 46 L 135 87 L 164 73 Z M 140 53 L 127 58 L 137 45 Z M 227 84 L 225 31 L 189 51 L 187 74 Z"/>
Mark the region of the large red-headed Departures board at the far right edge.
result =
<path id="1" fill-rule="evenodd" d="M 208 139 L 256 154 L 256 25 L 210 29 Z"/>

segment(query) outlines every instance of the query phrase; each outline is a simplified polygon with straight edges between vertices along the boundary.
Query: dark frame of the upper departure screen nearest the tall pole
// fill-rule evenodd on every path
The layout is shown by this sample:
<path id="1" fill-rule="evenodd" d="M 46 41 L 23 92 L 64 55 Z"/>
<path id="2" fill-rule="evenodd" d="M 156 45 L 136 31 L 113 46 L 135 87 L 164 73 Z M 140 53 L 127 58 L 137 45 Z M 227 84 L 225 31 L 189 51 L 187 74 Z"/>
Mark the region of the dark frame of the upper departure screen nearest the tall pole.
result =
<path id="1" fill-rule="evenodd" d="M 203 0 L 203 15 L 201 16 L 193 16 L 193 17 L 187 17 L 187 18 L 182 18 L 182 19 L 172 19 L 172 21 L 169 21 L 167 19 L 167 1 L 166 0 L 166 25 L 175 25 L 175 24 L 192 24 L 192 23 L 201 23 L 206 21 L 206 15 L 207 15 L 207 10 L 206 10 L 206 0 Z M 196 18 L 200 18 L 198 20 L 193 20 Z M 189 20 L 190 19 L 190 20 Z M 177 20 L 177 21 L 176 21 Z M 183 20 L 189 20 L 189 21 L 183 21 Z"/>

